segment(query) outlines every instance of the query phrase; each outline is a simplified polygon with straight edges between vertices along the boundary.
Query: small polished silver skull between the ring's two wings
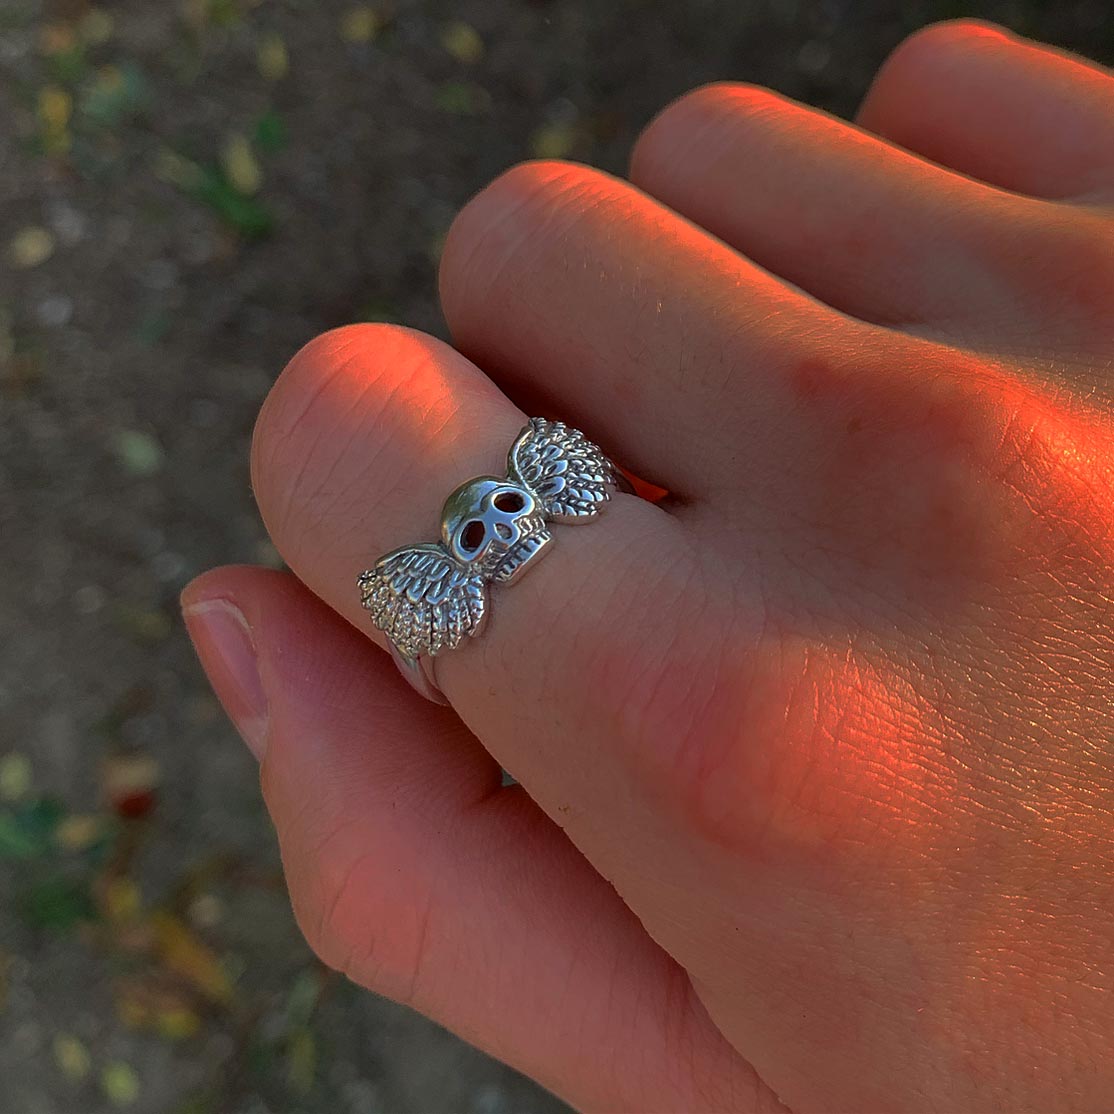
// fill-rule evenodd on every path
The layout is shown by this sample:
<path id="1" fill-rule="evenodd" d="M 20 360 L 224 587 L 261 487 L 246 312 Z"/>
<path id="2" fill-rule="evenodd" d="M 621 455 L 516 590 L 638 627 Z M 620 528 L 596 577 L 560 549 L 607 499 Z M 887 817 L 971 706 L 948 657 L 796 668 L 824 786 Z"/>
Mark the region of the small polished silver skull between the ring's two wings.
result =
<path id="1" fill-rule="evenodd" d="M 510 479 L 480 476 L 461 483 L 441 512 L 444 547 L 489 580 L 517 579 L 551 537 L 538 500 Z"/>

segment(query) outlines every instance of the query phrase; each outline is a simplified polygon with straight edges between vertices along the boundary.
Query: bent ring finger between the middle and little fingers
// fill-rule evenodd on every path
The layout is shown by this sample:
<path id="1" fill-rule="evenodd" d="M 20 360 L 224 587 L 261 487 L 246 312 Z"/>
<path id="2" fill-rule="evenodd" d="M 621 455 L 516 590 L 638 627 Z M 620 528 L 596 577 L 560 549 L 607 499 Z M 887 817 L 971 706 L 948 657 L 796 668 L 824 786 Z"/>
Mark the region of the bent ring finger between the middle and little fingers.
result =
<path id="1" fill-rule="evenodd" d="M 631 177 L 866 321 L 978 317 L 997 301 L 971 215 L 989 224 L 1012 198 L 768 89 L 682 97 L 638 139 Z"/>

